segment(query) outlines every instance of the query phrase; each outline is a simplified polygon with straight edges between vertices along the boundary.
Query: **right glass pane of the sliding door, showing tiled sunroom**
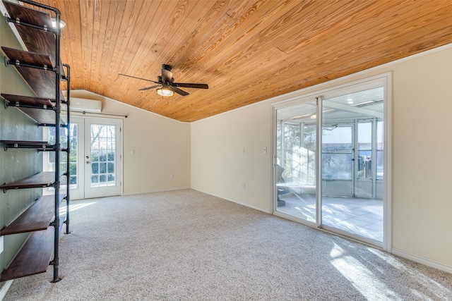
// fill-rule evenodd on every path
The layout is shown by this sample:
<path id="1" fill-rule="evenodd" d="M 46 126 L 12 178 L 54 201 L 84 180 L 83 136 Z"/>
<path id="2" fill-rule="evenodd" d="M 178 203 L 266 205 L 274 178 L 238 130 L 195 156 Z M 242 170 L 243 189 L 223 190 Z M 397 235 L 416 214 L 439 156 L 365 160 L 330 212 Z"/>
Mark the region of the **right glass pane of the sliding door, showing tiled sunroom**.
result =
<path id="1" fill-rule="evenodd" d="M 383 87 L 321 101 L 323 228 L 379 242 L 383 242 L 383 171 L 378 179 L 374 126 L 383 123 L 382 102 Z"/>

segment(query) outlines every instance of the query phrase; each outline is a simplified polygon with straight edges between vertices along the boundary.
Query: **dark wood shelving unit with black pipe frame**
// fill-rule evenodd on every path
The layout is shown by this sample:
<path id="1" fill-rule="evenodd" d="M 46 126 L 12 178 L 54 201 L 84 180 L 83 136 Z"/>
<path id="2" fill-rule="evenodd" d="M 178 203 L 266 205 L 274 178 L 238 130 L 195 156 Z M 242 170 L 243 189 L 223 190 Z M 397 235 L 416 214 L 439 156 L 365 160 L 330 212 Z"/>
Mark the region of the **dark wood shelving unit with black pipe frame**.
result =
<path id="1" fill-rule="evenodd" d="M 53 280 L 59 281 L 59 234 L 66 224 L 69 233 L 69 89 L 70 67 L 59 58 L 60 29 L 52 27 L 51 16 L 61 20 L 57 8 L 22 0 L 13 3 L 3 0 L 9 16 L 6 21 L 13 23 L 25 44 L 26 50 L 1 47 L 6 66 L 13 66 L 27 83 L 35 97 L 1 94 L 4 106 L 14 107 L 34 119 L 40 126 L 55 128 L 55 143 L 45 141 L 0 140 L 4 151 L 15 149 L 37 149 L 54 152 L 55 171 L 44 171 L 35 175 L 13 180 L 0 188 L 18 190 L 27 188 L 54 188 L 54 195 L 40 197 L 25 209 L 18 218 L 1 229 L 0 235 L 30 233 L 16 256 L 1 272 L 0 281 L 44 273 L 49 264 L 53 266 Z M 66 73 L 64 72 L 66 70 Z M 61 80 L 67 82 L 67 99 L 61 93 Z M 66 113 L 61 114 L 61 106 L 66 105 Z M 67 147 L 61 147 L 60 128 L 67 128 Z M 18 133 L 20 135 L 20 133 Z M 68 170 L 60 171 L 60 152 L 67 152 Z M 31 155 L 30 152 L 27 153 Z M 60 178 L 66 175 L 66 188 L 60 193 Z M 60 203 L 66 200 L 66 214 L 60 214 Z M 52 259 L 53 256 L 53 259 Z"/>

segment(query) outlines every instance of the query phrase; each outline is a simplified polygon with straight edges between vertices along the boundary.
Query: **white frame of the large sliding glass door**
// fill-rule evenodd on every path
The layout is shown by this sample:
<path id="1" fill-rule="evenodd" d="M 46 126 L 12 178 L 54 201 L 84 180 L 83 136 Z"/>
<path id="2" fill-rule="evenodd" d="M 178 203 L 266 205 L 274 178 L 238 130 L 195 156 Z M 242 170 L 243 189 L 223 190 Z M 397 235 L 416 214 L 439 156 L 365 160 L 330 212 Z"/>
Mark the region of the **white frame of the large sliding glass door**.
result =
<path id="1" fill-rule="evenodd" d="M 278 199 L 276 191 L 276 166 L 278 158 L 276 156 L 276 124 L 277 124 L 277 111 L 278 109 L 285 109 L 291 106 L 296 106 L 297 104 L 304 104 L 307 102 L 316 101 L 316 158 L 321 158 L 321 140 L 322 140 L 322 101 L 323 99 L 330 99 L 332 97 L 337 97 L 339 95 L 344 95 L 350 93 L 350 91 L 367 90 L 376 85 L 383 86 L 383 242 L 376 242 L 375 240 L 363 238 L 359 235 L 354 235 L 346 231 L 341 231 L 340 229 L 328 227 L 322 224 L 322 160 L 316 160 L 316 222 L 306 221 L 302 219 L 297 219 L 293 216 L 283 214 L 277 210 Z M 277 216 L 290 219 L 292 221 L 297 221 L 299 223 L 304 223 L 307 226 L 319 228 L 323 231 L 328 231 L 338 235 L 343 235 L 352 240 L 357 240 L 359 242 L 364 242 L 369 245 L 374 245 L 375 247 L 380 247 L 383 250 L 391 252 L 391 73 L 383 73 L 381 75 L 376 75 L 371 78 L 365 78 L 362 80 L 357 80 L 355 82 L 350 82 L 344 85 L 337 85 L 335 87 L 328 87 L 321 89 L 322 85 L 319 85 L 319 89 L 315 92 L 303 93 L 303 90 L 299 92 L 293 92 L 291 94 L 283 95 L 276 99 L 279 102 L 273 103 L 273 214 Z M 356 125 L 355 125 L 356 126 Z M 356 137 L 354 138 L 356 139 Z M 355 149 L 356 156 L 357 149 Z M 374 163 L 373 163 L 374 164 Z M 356 164 L 355 164 L 356 165 Z M 374 167 L 374 166 L 373 166 Z M 354 167 L 356 170 L 356 167 Z M 353 175 L 352 177 L 355 177 Z M 352 178 L 356 180 L 356 178 Z M 355 189 L 355 188 L 354 188 Z M 353 191 L 355 193 L 355 191 Z"/>

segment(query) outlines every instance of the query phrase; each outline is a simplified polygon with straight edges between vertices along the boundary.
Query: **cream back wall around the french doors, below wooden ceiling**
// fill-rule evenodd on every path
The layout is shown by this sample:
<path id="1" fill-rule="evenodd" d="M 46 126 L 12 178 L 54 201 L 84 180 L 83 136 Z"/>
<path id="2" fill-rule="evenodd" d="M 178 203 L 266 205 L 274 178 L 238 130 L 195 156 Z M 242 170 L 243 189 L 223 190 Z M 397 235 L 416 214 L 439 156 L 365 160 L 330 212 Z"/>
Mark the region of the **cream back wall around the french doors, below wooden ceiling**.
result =
<path id="1" fill-rule="evenodd" d="M 124 125 L 124 195 L 190 188 L 189 123 L 174 121 L 85 90 L 71 91 L 71 97 L 100 100 L 102 113 L 128 116 L 121 118 Z M 87 116 L 119 118 L 97 114 Z M 132 149 L 135 154 L 132 154 Z"/>

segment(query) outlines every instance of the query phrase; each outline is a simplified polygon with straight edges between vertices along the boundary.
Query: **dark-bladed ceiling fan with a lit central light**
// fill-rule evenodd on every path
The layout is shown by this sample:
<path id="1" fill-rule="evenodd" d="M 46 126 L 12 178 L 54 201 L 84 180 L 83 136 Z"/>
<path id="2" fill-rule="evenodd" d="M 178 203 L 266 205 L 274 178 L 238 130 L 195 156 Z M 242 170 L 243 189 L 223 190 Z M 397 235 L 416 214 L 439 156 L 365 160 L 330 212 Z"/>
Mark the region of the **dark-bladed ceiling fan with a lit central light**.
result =
<path id="1" fill-rule="evenodd" d="M 136 78 L 135 76 L 126 75 L 122 73 L 118 73 L 119 75 L 127 76 L 129 78 Z M 208 89 L 209 86 L 207 84 L 189 84 L 184 82 L 174 82 L 174 78 L 172 77 L 171 72 L 171 66 L 163 64 L 162 65 L 162 75 L 159 75 L 157 77 L 157 81 L 155 80 L 147 80 L 145 78 L 136 78 L 138 80 L 146 80 L 148 82 L 155 82 L 157 85 L 153 85 L 150 87 L 144 87 L 142 89 L 139 89 L 141 91 L 143 90 L 150 90 L 157 88 L 157 93 L 162 96 L 172 96 L 174 92 L 177 94 L 180 94 L 182 96 L 186 96 L 189 93 L 185 92 L 184 90 L 180 90 L 179 87 L 186 87 L 186 88 L 195 88 L 195 89 Z"/>

